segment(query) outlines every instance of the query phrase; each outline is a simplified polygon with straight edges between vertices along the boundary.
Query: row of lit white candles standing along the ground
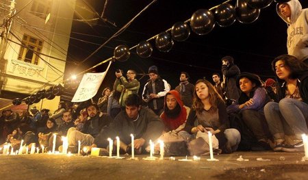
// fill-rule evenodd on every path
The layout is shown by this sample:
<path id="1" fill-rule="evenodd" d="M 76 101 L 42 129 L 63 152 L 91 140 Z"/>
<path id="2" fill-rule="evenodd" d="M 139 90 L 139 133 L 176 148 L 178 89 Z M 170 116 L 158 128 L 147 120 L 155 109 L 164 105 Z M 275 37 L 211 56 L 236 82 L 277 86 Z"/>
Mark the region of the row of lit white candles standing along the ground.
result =
<path id="1" fill-rule="evenodd" d="M 210 159 L 207 159 L 208 161 L 217 161 L 217 159 L 214 159 L 214 153 L 213 153 L 213 145 L 212 145 L 212 134 L 210 131 L 208 131 L 208 136 L 209 136 L 209 155 Z M 304 149 L 305 149 L 305 159 L 308 159 L 308 136 L 306 134 L 302 135 L 303 138 L 303 144 L 304 144 Z M 114 141 L 111 138 L 107 139 L 109 141 L 109 157 L 112 156 L 112 151 L 113 151 L 113 146 L 114 146 Z M 52 152 L 49 153 L 56 153 L 55 151 L 55 141 L 56 141 L 56 135 L 53 134 L 53 149 Z M 62 154 L 64 155 L 70 155 L 70 152 L 67 152 L 68 150 L 68 139 L 66 137 L 62 136 Z M 160 153 L 160 158 L 159 159 L 164 159 L 164 142 L 162 140 L 158 141 L 159 143 L 159 153 Z M 150 157 L 148 157 L 150 160 L 155 159 L 154 157 L 154 142 L 150 140 L 149 142 L 150 145 Z M 10 150 L 10 144 L 6 144 L 3 146 L 3 155 L 21 155 L 23 154 L 23 149 L 25 148 L 25 154 L 28 154 L 29 148 L 28 146 L 23 146 L 23 140 L 21 140 L 21 145 L 19 150 L 16 150 L 14 152 L 14 149 Z M 42 153 L 44 153 L 44 146 L 42 147 Z M 80 148 L 81 148 L 81 142 L 80 140 L 78 141 L 78 155 L 80 155 Z M 91 149 L 91 156 L 99 156 L 99 148 L 92 148 Z M 1 151 L 1 148 L 0 148 Z M 34 153 L 39 153 L 40 149 L 36 147 L 35 143 L 32 143 L 31 149 L 30 149 L 30 154 Z M 84 152 L 87 152 L 88 149 L 84 149 Z M 127 152 L 128 153 L 128 152 Z M 58 153 L 56 153 L 58 154 Z M 120 138 L 118 136 L 116 137 L 116 159 L 122 159 L 123 157 L 120 157 Z M 134 149 L 134 136 L 131 134 L 131 159 L 135 159 L 135 149 Z"/>

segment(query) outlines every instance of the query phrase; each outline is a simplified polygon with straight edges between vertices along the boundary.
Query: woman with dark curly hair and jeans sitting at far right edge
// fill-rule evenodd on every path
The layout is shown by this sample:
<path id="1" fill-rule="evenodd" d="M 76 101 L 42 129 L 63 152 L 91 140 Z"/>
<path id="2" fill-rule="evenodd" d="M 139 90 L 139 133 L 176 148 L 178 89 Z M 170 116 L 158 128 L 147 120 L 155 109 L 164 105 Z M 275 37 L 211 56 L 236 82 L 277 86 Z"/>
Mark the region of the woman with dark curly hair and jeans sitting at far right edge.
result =
<path id="1" fill-rule="evenodd" d="M 308 66 L 292 55 L 280 55 L 272 61 L 277 77 L 279 103 L 264 107 L 274 151 L 303 151 L 302 134 L 308 133 Z"/>

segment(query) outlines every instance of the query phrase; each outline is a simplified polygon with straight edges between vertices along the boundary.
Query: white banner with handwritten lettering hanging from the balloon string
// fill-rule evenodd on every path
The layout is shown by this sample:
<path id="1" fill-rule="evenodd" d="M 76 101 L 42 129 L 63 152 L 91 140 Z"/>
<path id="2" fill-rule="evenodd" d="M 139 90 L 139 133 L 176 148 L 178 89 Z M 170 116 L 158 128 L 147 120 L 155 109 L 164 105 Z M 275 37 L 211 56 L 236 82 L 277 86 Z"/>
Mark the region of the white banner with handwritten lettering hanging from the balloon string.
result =
<path id="1" fill-rule="evenodd" d="M 72 99 L 72 102 L 83 102 L 91 99 L 97 94 L 105 75 L 112 61 L 109 62 L 107 70 L 103 73 L 86 73 L 79 83 L 78 89 Z"/>

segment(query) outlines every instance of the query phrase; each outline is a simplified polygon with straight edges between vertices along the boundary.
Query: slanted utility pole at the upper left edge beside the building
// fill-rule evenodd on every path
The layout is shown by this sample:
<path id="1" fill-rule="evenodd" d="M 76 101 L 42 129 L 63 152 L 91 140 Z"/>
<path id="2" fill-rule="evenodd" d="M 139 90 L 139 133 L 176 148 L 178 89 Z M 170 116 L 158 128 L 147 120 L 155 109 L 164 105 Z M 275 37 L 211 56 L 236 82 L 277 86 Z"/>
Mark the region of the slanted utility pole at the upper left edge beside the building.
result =
<path id="1" fill-rule="evenodd" d="M 16 10 L 15 10 L 15 0 L 11 0 L 10 2 L 10 10 L 8 16 L 5 16 L 3 19 L 3 22 L 5 24 L 3 25 L 3 31 L 1 32 L 1 43 L 0 43 L 0 61 L 3 59 L 3 56 L 5 55 L 5 51 L 8 47 L 8 35 L 10 34 L 10 29 L 12 26 L 13 19 L 11 19 L 12 16 L 14 16 Z"/>

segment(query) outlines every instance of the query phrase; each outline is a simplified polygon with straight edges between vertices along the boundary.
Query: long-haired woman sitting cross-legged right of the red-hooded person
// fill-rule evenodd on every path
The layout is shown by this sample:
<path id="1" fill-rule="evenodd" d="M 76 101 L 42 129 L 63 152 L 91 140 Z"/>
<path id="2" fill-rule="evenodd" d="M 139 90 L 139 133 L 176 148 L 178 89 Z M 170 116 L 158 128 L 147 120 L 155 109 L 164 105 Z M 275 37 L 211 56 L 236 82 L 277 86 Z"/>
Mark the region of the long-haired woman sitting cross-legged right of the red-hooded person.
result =
<path id="1" fill-rule="evenodd" d="M 240 143 L 240 132 L 237 129 L 227 129 L 226 105 L 214 86 L 205 79 L 199 79 L 196 81 L 194 97 L 185 131 L 180 131 L 179 135 L 189 141 L 198 131 L 210 131 L 218 139 L 222 153 L 236 151 Z"/>

